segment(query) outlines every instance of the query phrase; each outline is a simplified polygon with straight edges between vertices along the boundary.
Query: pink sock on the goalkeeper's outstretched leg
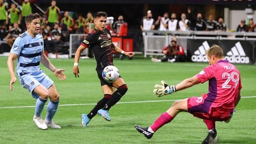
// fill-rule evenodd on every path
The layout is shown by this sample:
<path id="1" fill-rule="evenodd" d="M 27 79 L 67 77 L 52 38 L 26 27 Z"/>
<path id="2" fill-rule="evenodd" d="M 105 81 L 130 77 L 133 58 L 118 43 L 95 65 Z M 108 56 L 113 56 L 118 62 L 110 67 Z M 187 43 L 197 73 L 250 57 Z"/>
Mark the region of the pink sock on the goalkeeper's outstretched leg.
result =
<path id="1" fill-rule="evenodd" d="M 164 112 L 156 119 L 155 123 L 150 127 L 154 132 L 156 132 L 159 128 L 161 128 L 163 125 L 169 123 L 172 120 L 173 116 L 170 116 L 167 112 Z"/>

